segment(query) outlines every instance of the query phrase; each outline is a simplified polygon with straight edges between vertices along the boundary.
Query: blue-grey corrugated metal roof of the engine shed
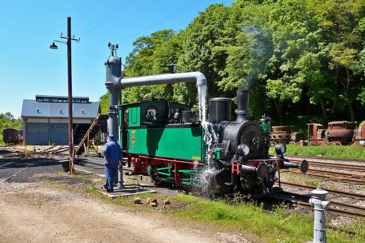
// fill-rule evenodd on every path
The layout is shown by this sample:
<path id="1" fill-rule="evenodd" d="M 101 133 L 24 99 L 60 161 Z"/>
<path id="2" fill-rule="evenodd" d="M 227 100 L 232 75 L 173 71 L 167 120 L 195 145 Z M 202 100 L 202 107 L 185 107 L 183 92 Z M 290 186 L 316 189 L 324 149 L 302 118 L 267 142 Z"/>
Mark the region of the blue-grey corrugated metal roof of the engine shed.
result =
<path id="1" fill-rule="evenodd" d="M 96 118 L 99 102 L 72 103 L 72 117 Z M 37 113 L 37 108 L 38 112 Z M 62 109 L 60 112 L 59 110 Z M 84 110 L 84 113 L 82 113 Z M 38 102 L 33 99 L 23 99 L 22 117 L 68 117 L 68 103 Z"/>

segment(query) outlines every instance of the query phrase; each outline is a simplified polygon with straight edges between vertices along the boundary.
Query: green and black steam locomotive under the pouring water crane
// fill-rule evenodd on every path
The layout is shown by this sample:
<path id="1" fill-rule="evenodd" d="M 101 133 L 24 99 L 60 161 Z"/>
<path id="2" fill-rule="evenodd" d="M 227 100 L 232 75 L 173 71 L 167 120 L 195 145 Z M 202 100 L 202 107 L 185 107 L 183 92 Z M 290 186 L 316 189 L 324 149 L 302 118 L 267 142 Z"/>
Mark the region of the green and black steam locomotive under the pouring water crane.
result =
<path id="1" fill-rule="evenodd" d="M 154 184 L 218 197 L 272 192 L 283 168 L 306 173 L 307 161 L 296 164 L 284 158 L 284 144 L 277 144 L 277 155 L 269 156 L 271 119 L 248 119 L 249 91 L 237 91 L 237 101 L 234 120 L 231 99 L 210 99 L 209 122 L 197 119 L 191 106 L 162 99 L 121 105 L 123 157 L 136 175 L 149 175 Z"/>

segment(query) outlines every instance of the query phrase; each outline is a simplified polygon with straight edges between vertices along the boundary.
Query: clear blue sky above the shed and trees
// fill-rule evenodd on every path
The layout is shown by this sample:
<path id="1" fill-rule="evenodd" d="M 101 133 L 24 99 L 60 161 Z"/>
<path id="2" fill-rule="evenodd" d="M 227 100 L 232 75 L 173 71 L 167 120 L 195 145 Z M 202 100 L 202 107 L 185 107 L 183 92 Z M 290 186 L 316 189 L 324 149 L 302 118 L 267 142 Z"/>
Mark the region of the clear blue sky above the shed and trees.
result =
<path id="1" fill-rule="evenodd" d="M 124 62 L 139 36 L 185 29 L 210 4 L 232 1 L 1 1 L 0 113 L 19 117 L 23 99 L 36 94 L 68 96 L 67 46 L 49 48 L 53 40 L 65 40 L 59 33 L 67 36 L 67 16 L 72 34 L 80 37 L 80 43 L 72 42 L 73 96 L 99 101 L 106 93 L 108 42 L 119 44 L 117 55 Z"/>

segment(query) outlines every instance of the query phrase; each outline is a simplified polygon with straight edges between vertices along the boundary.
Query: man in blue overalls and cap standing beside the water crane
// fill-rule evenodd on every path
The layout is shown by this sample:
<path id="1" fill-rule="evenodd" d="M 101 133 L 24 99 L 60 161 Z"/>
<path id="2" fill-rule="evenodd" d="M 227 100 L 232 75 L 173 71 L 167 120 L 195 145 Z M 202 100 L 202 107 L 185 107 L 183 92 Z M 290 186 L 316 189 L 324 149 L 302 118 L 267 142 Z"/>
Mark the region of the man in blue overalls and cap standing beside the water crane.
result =
<path id="1" fill-rule="evenodd" d="M 105 184 L 107 192 L 114 192 L 113 182 L 114 175 L 118 173 L 119 161 L 123 161 L 122 149 L 117 142 L 114 142 L 114 136 L 107 136 L 107 143 L 104 145 L 104 165 L 105 165 Z"/>

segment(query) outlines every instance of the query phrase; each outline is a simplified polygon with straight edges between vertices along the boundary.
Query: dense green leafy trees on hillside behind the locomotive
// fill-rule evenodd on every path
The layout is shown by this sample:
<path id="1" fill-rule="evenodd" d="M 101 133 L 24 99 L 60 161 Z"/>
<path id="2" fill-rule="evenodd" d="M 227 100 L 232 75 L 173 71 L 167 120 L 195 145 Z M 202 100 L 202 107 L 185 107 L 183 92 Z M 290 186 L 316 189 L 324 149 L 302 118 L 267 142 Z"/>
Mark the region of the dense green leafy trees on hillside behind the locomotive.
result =
<path id="1" fill-rule="evenodd" d="M 363 0 L 237 0 L 210 5 L 185 30 L 133 43 L 126 75 L 200 71 L 208 98 L 250 90 L 250 118 L 273 125 L 365 119 Z M 131 87 L 122 102 L 157 97 L 196 105 L 196 84 Z M 234 99 L 235 101 L 235 99 Z"/>

